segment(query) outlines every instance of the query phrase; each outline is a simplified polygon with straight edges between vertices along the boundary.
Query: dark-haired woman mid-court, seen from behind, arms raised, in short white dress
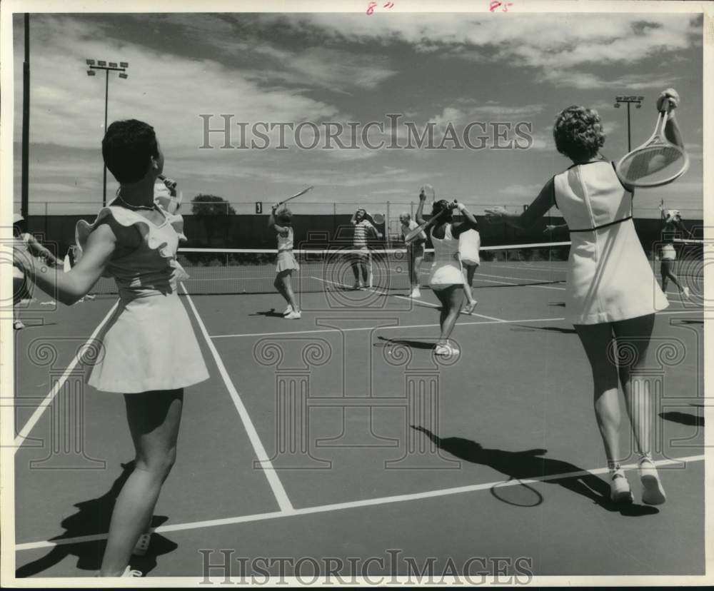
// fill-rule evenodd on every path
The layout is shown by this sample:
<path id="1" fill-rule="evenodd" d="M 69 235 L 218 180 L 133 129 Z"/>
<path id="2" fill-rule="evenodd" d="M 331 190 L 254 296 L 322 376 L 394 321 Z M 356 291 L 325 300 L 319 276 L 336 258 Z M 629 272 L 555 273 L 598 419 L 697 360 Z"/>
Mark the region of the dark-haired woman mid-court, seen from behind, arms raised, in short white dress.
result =
<path id="1" fill-rule="evenodd" d="M 422 216 L 425 201 L 426 195 L 424 191 L 421 191 L 419 206 L 416 210 L 416 222 L 419 225 L 424 223 Z M 466 221 L 453 223 L 451 212 L 456 208 L 466 218 Z M 442 199 L 434 203 L 431 219 L 424 229 L 426 230 L 430 226 L 432 228 L 431 243 L 434 246 L 434 261 L 431 265 L 429 286 L 441 302 L 441 313 L 439 314 L 441 335 L 436 343 L 434 354 L 458 355 L 458 348 L 449 342 L 463 303 L 463 271 L 458 256 L 458 237 L 461 236 L 461 233 L 476 228 L 476 218 L 466 210 L 463 203 L 457 204 L 456 201 L 448 203 Z"/>

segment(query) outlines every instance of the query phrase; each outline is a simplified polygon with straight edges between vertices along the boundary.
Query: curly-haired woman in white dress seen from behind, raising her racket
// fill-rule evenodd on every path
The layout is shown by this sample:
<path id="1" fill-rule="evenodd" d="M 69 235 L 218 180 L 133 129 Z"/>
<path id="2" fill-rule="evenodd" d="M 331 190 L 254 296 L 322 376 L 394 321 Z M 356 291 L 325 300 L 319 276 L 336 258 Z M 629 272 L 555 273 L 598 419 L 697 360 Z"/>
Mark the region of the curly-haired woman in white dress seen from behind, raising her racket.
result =
<path id="1" fill-rule="evenodd" d="M 665 502 L 650 455 L 653 411 L 648 383 L 638 370 L 644 366 L 655 312 L 666 308 L 668 301 L 635 233 L 632 198 L 633 186 L 651 186 L 650 176 L 658 175 L 663 166 L 670 168 L 665 182 L 677 178 L 686 168 L 684 143 L 674 116 L 678 104 L 679 96 L 673 89 L 660 94 L 657 124 L 663 122 L 659 137 L 666 150 L 648 152 L 644 146 L 638 152 L 640 146 L 625 156 L 618 170 L 637 173 L 633 172 L 628 182 L 621 181 L 623 173 L 618 177 L 613 163 L 600 156 L 605 133 L 598 113 L 581 106 L 566 108 L 555 120 L 553 137 L 558 151 L 570 158 L 573 166 L 545 183 L 520 215 L 503 208 L 487 210 L 492 221 L 526 228 L 557 206 L 570 228 L 566 306 L 593 371 L 595 418 L 605 446 L 610 498 L 614 502 L 633 502 L 620 467 L 620 460 L 626 458 L 620 451 L 620 385 L 635 435 L 642 500 L 648 505 Z M 645 166 L 648 158 L 650 165 Z M 637 166 L 633 166 L 633 160 Z M 678 168 L 672 168 L 673 163 Z"/>

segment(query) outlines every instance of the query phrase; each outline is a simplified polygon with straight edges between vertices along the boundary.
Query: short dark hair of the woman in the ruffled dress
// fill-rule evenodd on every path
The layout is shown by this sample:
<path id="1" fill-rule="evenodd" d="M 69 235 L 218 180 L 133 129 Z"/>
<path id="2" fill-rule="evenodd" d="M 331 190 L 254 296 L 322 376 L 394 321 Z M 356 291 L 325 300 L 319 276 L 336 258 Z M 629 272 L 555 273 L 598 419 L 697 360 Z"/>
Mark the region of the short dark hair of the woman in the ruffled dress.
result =
<path id="1" fill-rule="evenodd" d="M 117 181 L 140 181 L 149 170 L 151 157 L 159 157 L 154 128 L 136 119 L 114 121 L 101 141 L 101 155 Z"/>

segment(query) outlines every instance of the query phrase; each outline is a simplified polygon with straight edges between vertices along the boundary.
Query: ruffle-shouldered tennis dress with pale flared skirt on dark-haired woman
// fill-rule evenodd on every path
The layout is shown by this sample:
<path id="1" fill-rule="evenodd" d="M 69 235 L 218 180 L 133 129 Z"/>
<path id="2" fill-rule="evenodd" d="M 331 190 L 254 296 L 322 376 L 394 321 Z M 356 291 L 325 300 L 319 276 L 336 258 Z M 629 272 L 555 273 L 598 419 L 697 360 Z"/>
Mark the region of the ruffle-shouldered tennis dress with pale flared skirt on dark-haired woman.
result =
<path id="1" fill-rule="evenodd" d="M 79 221 L 76 242 L 83 248 L 102 221 L 134 226 L 141 244 L 110 261 L 104 276 L 114 277 L 119 305 L 98 336 L 101 350 L 89 385 L 104 392 L 175 390 L 208 378 L 191 320 L 176 291 L 188 278 L 176 261 L 183 218 L 164 215 L 156 225 L 139 213 L 117 206 L 102 208 L 94 223 Z"/>

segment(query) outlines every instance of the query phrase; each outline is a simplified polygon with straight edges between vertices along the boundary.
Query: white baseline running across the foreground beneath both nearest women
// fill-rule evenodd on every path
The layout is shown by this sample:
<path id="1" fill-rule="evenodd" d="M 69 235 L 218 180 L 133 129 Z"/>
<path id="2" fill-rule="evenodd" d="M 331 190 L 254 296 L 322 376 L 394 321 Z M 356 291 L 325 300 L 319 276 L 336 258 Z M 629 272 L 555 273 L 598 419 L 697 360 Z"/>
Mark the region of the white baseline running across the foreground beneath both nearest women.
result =
<path id="1" fill-rule="evenodd" d="M 664 466 L 671 464 L 679 464 L 683 462 L 700 462 L 704 460 L 704 455 L 691 455 L 687 458 L 675 458 L 673 460 L 658 460 L 655 465 Z M 628 464 L 622 467 L 625 470 L 633 470 L 637 468 L 636 464 Z M 445 497 L 448 495 L 459 495 L 464 492 L 476 492 L 479 490 L 488 490 L 493 486 L 517 486 L 523 484 L 547 483 L 550 480 L 561 480 L 563 478 L 577 478 L 578 476 L 598 475 L 608 472 L 608 468 L 596 468 L 595 470 L 579 470 L 578 472 L 566 472 L 561 474 L 549 474 L 546 476 L 537 476 L 535 478 L 526 478 L 523 480 L 511 479 L 507 481 L 497 480 L 493 483 L 481 483 L 477 485 L 457 486 L 453 488 L 442 488 L 439 490 L 426 490 L 424 492 L 413 492 L 406 495 L 391 495 L 388 497 L 376 497 L 372 499 L 363 499 L 348 502 L 335 502 L 329 505 L 316 505 L 315 507 L 303 507 L 295 509 L 291 512 L 271 511 L 266 513 L 256 513 L 253 515 L 241 515 L 238 517 L 225 517 L 223 519 L 211 519 L 205 521 L 193 521 L 186 523 L 176 523 L 174 525 L 161 525 L 156 527 L 156 533 L 178 532 L 185 530 L 197 530 L 203 527 L 217 527 L 220 525 L 234 525 L 237 523 L 246 523 L 253 521 L 265 521 L 270 519 L 278 519 L 280 517 L 293 517 L 296 515 L 312 515 L 314 513 L 326 513 L 340 511 L 346 509 L 356 509 L 357 507 L 373 507 L 375 505 L 387 505 L 394 502 L 406 502 L 411 500 L 422 500 L 434 497 Z M 76 544 L 79 542 L 94 542 L 96 540 L 105 540 L 106 534 L 83 535 L 79 537 L 68 537 L 63 540 L 43 540 L 41 542 L 26 542 L 15 546 L 16 552 L 21 550 L 36 550 L 38 548 L 54 547 L 67 544 Z"/>

